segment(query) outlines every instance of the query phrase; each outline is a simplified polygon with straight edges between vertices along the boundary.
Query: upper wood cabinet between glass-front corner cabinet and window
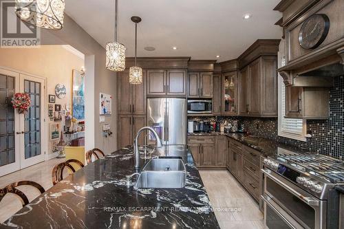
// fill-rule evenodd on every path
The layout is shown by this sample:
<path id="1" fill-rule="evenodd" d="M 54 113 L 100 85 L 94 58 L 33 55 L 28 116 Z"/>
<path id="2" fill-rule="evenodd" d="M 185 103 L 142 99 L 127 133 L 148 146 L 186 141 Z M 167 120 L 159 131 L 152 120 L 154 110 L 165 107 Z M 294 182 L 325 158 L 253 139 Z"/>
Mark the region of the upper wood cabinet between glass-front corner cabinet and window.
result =
<path id="1" fill-rule="evenodd" d="M 261 56 L 240 71 L 239 115 L 277 117 L 277 56 Z"/>

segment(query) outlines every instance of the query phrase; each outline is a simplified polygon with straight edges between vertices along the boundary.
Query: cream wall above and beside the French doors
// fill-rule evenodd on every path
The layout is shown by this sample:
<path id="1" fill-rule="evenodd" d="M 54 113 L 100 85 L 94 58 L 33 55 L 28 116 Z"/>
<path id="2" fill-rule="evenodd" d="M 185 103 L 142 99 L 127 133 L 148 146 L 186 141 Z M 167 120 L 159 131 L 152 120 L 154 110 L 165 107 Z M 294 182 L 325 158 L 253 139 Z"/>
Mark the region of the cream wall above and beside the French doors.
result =
<path id="1" fill-rule="evenodd" d="M 55 94 L 56 84 L 65 85 L 67 95 L 63 99 L 56 97 L 55 103 L 63 106 L 66 104 L 72 106 L 72 70 L 80 70 L 84 64 L 83 58 L 69 52 L 62 45 L 43 45 L 32 49 L 0 49 L 0 66 L 46 78 L 47 95 Z M 48 101 L 47 95 L 45 96 L 46 102 Z M 47 153 L 50 154 L 52 153 L 52 142 L 49 138 L 49 127 L 50 123 L 54 123 L 54 121 L 50 121 L 47 111 L 45 111 L 45 120 L 47 120 L 48 129 Z"/>

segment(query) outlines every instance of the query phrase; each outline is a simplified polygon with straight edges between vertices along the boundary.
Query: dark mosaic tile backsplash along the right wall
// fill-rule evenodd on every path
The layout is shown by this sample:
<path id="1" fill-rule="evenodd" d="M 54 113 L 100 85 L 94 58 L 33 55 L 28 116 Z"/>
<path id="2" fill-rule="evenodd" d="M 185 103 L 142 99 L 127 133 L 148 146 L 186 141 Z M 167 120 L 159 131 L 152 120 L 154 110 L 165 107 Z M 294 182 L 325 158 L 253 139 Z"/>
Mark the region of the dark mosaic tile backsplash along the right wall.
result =
<path id="1" fill-rule="evenodd" d="M 328 120 L 308 120 L 307 132 L 312 134 L 307 142 L 278 136 L 277 118 L 217 117 L 219 120 L 239 120 L 244 123 L 250 135 L 257 135 L 301 149 L 330 155 L 344 160 L 344 76 L 334 80 L 330 91 L 330 118 Z M 202 118 L 205 119 L 205 118 Z"/>

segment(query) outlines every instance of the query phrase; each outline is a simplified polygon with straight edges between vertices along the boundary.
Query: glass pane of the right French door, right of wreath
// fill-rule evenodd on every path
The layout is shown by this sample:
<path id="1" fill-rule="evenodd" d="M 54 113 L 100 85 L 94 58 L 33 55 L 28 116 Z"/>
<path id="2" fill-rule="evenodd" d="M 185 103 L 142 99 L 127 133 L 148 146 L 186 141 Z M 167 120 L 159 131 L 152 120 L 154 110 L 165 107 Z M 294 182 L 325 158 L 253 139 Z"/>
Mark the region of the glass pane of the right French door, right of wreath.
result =
<path id="1" fill-rule="evenodd" d="M 24 92 L 31 98 L 31 106 L 24 115 L 24 151 L 28 159 L 41 155 L 41 83 L 24 80 Z"/>

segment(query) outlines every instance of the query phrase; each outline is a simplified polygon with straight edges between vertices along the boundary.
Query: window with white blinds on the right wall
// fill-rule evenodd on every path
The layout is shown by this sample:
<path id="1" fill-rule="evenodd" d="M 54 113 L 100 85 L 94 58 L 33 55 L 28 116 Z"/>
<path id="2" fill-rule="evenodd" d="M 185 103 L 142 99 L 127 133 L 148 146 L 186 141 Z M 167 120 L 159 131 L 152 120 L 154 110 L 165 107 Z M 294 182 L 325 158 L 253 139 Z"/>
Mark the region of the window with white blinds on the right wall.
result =
<path id="1" fill-rule="evenodd" d="M 279 135 L 305 141 L 305 121 L 286 116 L 286 86 L 279 76 Z"/>

